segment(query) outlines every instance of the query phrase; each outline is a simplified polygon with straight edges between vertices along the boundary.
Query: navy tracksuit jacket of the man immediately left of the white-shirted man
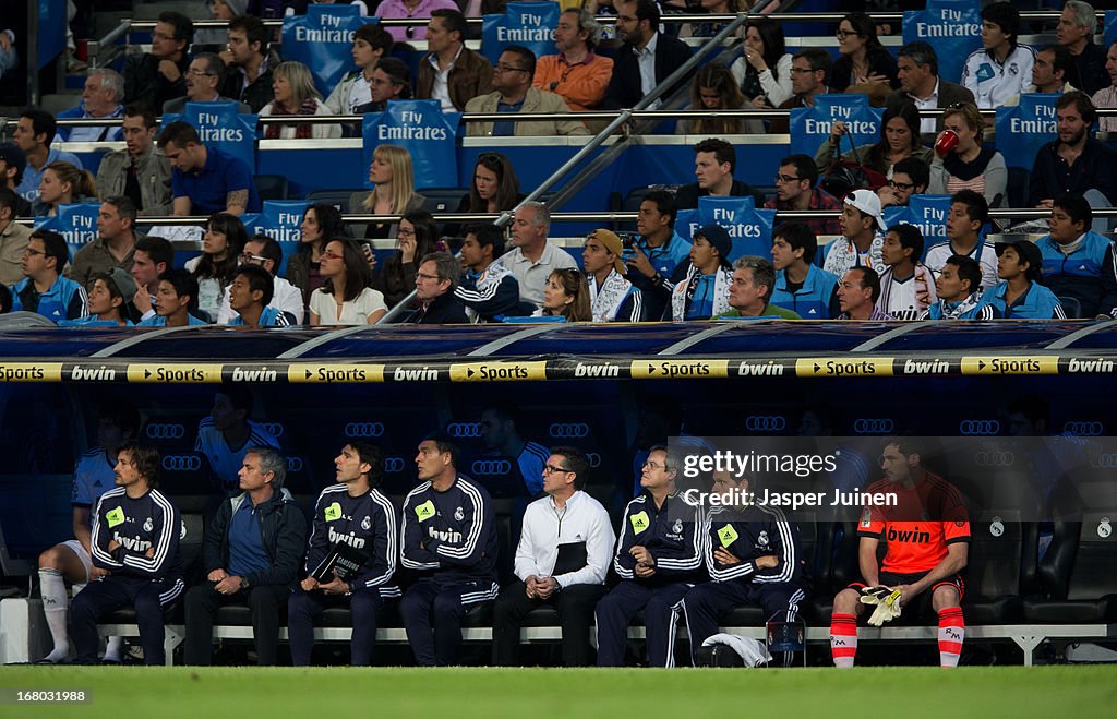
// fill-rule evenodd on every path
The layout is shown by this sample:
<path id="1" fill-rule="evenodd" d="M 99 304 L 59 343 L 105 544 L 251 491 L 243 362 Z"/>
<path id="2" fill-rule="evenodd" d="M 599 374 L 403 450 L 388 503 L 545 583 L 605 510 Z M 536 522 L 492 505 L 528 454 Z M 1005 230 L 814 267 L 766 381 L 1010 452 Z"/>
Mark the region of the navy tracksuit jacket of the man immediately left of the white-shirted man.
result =
<path id="1" fill-rule="evenodd" d="M 493 501 L 480 485 L 458 474 L 443 492 L 430 482 L 403 501 L 403 550 L 408 569 L 439 579 L 495 579 L 497 538 Z"/>

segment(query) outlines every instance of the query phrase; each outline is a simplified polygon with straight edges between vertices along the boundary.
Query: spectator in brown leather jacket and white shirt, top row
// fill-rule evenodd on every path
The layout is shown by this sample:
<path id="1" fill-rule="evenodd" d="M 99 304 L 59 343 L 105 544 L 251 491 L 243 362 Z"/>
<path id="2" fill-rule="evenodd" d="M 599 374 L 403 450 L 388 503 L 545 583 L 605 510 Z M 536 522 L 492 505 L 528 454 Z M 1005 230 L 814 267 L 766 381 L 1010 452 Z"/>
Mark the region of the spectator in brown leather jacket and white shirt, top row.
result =
<path id="1" fill-rule="evenodd" d="M 419 60 L 416 97 L 439 100 L 442 112 L 461 112 L 466 103 L 493 89 L 493 66 L 466 47 L 466 16 L 451 9 L 430 15 L 430 52 Z"/>

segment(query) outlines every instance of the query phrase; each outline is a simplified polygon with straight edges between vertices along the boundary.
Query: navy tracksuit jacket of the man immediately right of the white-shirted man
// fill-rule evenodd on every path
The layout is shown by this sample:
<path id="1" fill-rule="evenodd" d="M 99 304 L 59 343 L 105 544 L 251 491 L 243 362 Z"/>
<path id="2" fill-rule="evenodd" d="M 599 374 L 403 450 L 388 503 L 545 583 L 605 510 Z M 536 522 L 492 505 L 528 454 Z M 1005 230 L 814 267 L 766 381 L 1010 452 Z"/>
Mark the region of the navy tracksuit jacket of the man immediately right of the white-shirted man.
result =
<path id="1" fill-rule="evenodd" d="M 613 568 L 621 577 L 641 584 L 697 582 L 705 578 L 701 556 L 701 512 L 676 492 L 657 508 L 648 491 L 628 504 L 621 521 Z M 636 576 L 636 558 L 629 552 L 642 546 L 656 558 L 656 574 Z"/>

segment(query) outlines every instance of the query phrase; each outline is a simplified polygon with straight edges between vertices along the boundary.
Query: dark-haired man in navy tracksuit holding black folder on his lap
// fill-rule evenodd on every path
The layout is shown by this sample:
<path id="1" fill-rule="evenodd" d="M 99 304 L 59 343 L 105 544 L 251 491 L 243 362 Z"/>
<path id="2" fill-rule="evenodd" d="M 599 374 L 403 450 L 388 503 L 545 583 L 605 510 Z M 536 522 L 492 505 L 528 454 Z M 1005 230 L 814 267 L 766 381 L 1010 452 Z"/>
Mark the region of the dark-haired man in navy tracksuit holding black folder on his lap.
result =
<path id="1" fill-rule="evenodd" d="M 371 665 L 381 600 L 400 595 L 400 588 L 391 584 L 400 540 L 395 508 L 378 489 L 384 471 L 383 450 L 352 442 L 334 459 L 334 468 L 338 483 L 323 489 L 314 506 L 306 552 L 308 576 L 287 601 L 287 631 L 295 667 L 311 663 L 314 617 L 327 606 L 350 607 L 352 664 Z M 345 582 L 336 574 L 331 574 L 328 582 L 309 576 L 338 544 L 349 545 L 366 557 L 361 569 Z"/>

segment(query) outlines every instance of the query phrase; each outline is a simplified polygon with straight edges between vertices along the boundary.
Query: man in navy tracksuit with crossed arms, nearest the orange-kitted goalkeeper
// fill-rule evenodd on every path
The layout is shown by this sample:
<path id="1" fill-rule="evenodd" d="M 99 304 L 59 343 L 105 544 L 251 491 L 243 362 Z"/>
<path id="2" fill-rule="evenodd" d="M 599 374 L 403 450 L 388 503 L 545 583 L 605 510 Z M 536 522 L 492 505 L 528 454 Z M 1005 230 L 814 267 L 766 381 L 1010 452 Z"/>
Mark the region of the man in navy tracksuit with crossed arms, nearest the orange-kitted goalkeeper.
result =
<path id="1" fill-rule="evenodd" d="M 747 479 L 737 482 L 728 472 L 714 472 L 713 493 L 747 489 Z M 739 500 L 712 507 L 704 533 L 713 582 L 690 589 L 677 607 L 687 622 L 691 661 L 703 641 L 717 633 L 723 614 L 743 604 L 760 604 L 765 617 L 793 622 L 809 587 L 799 525 L 787 521 L 779 507 Z M 784 667 L 791 665 L 792 655 L 784 652 Z"/>

